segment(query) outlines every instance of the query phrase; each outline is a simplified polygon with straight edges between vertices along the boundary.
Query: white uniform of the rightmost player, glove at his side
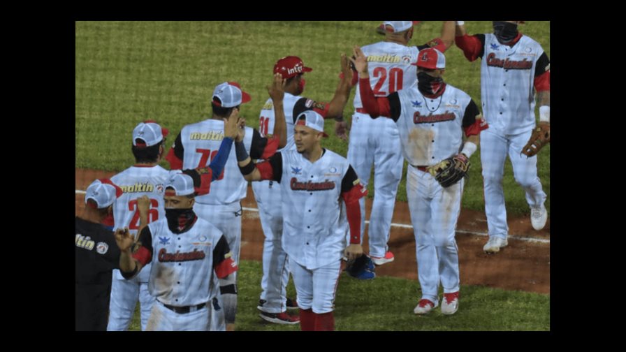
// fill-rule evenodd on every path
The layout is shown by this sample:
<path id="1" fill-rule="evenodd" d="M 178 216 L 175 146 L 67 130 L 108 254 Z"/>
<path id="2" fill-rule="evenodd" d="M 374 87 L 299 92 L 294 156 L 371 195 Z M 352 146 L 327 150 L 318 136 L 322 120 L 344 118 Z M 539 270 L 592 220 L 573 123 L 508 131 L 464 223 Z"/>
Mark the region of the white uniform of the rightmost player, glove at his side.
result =
<path id="1" fill-rule="evenodd" d="M 509 226 L 502 177 L 507 154 L 515 180 L 525 191 L 528 205 L 541 207 L 546 201 L 546 193 L 537 177 L 537 156 L 528 158 L 521 154 L 521 150 L 535 126 L 536 79 L 544 73 L 549 74 L 550 61 L 541 45 L 527 36 L 522 35 L 512 47 L 500 44 L 493 34 L 473 37 L 480 41 L 480 46 L 476 45 L 480 48 L 479 52 L 463 50 L 472 61 L 476 57 L 482 59 L 481 100 L 490 126 L 481 132 L 488 232 L 490 237 L 506 239 Z"/>

